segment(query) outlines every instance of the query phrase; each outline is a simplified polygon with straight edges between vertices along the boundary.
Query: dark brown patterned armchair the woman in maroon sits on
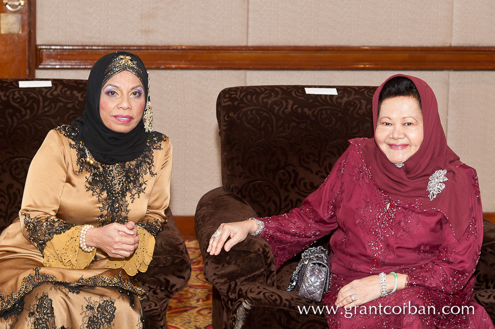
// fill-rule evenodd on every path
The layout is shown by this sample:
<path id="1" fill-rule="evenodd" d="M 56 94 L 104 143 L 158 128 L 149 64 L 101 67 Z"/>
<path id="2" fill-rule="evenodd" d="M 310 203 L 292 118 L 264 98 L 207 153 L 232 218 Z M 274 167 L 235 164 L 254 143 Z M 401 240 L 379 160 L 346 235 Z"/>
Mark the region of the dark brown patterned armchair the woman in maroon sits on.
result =
<path id="1" fill-rule="evenodd" d="M 228 253 L 206 253 L 221 223 L 282 214 L 301 205 L 327 177 L 355 137 L 372 137 L 376 87 L 335 87 L 338 95 L 306 94 L 310 86 L 227 88 L 217 99 L 222 187 L 198 203 L 195 229 L 204 275 L 213 285 L 213 328 L 327 328 L 318 306 L 285 291 L 298 257 L 275 270 L 263 239 L 248 235 Z M 475 297 L 495 318 L 495 225 L 485 221 Z M 328 246 L 329 236 L 317 243 Z M 299 256 L 300 257 L 300 256 Z"/>

